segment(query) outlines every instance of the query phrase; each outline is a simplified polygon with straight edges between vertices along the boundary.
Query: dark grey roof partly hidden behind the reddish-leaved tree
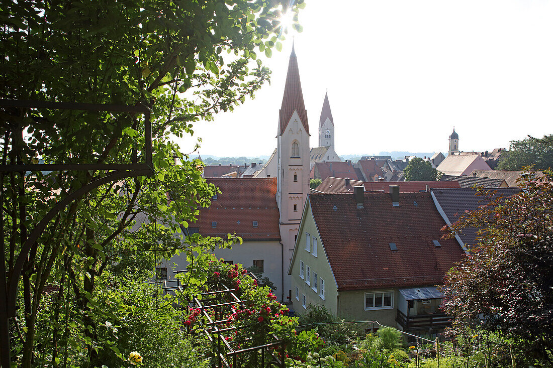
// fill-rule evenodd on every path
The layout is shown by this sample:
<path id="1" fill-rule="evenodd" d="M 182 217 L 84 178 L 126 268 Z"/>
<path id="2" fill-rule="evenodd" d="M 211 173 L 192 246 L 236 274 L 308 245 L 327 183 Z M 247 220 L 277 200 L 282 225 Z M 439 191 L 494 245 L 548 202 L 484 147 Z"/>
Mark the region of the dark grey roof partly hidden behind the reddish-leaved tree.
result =
<path id="1" fill-rule="evenodd" d="M 510 197 L 517 194 L 519 188 L 494 188 L 496 192 L 493 198 L 498 198 L 499 196 Z M 436 200 L 440 204 L 442 211 L 446 215 L 450 223 L 456 222 L 462 217 L 467 211 L 475 211 L 479 206 L 483 206 L 483 198 L 476 196 L 476 189 L 433 189 L 432 193 L 436 197 Z M 467 228 L 463 230 L 462 234 L 458 234 L 463 243 L 468 245 L 476 244 L 476 229 Z"/>

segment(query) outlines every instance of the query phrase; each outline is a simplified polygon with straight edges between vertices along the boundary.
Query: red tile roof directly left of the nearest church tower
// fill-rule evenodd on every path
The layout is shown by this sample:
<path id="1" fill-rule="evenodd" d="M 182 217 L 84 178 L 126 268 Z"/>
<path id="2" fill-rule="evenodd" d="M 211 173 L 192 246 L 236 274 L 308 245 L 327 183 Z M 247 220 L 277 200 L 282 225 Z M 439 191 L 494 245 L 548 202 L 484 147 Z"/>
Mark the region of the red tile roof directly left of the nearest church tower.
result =
<path id="1" fill-rule="evenodd" d="M 280 240 L 279 211 L 276 207 L 276 178 L 208 178 L 221 190 L 191 228 L 204 236 L 236 232 L 244 240 Z M 215 221 L 215 228 L 211 223 Z M 253 227 L 253 221 L 258 227 Z"/>

